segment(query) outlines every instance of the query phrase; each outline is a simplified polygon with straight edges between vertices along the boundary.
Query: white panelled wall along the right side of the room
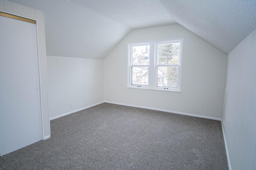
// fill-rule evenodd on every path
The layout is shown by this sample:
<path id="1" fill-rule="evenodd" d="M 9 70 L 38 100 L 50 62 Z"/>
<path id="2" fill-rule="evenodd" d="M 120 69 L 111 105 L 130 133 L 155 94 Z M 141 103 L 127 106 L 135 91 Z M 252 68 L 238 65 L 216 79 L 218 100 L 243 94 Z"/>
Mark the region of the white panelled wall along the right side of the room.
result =
<path id="1" fill-rule="evenodd" d="M 224 134 L 232 170 L 256 168 L 256 30 L 228 54 Z"/>

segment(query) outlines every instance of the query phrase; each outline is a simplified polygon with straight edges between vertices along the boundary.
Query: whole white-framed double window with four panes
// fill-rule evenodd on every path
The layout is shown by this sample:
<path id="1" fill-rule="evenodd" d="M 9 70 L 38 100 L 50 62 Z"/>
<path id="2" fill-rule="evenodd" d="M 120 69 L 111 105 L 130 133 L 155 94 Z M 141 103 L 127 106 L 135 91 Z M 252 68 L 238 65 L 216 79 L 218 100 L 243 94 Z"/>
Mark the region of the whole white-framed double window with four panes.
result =
<path id="1" fill-rule="evenodd" d="M 128 87 L 180 92 L 182 42 L 128 44 Z"/>

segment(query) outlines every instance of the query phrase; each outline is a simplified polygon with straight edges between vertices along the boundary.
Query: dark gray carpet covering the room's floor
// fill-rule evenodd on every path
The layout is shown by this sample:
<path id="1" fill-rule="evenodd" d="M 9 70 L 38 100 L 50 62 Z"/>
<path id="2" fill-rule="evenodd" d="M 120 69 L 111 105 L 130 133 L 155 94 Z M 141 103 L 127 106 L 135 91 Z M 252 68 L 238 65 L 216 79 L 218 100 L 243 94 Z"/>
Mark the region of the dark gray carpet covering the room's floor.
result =
<path id="1" fill-rule="evenodd" d="M 0 169 L 228 169 L 220 121 L 103 103 L 50 123 Z"/>

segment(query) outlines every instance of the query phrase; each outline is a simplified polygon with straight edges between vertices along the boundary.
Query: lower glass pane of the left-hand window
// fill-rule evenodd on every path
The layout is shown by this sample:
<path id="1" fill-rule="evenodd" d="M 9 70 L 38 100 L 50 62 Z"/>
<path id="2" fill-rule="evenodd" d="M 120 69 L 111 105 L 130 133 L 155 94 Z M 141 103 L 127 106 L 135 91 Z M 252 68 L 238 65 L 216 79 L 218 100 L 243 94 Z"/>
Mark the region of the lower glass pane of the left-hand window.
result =
<path id="1" fill-rule="evenodd" d="M 132 85 L 148 86 L 148 67 L 132 67 Z"/>

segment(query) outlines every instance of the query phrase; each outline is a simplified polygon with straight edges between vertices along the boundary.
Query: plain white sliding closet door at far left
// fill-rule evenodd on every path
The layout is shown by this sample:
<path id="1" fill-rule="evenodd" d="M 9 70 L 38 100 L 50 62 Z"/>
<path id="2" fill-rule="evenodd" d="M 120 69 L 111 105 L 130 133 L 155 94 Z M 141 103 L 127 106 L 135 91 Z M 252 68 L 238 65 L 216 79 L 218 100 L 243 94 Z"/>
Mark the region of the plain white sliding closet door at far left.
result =
<path id="1" fill-rule="evenodd" d="M 0 155 L 42 140 L 36 24 L 0 16 Z"/>

